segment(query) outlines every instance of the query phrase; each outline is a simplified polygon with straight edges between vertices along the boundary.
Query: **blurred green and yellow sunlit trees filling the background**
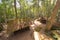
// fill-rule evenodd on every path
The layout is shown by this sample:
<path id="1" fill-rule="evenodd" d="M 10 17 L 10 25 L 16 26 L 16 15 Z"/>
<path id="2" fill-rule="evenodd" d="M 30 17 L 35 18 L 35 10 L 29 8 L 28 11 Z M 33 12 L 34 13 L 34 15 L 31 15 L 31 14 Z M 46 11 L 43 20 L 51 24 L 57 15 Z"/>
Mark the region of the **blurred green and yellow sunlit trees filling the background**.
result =
<path id="1" fill-rule="evenodd" d="M 0 0 L 0 23 L 15 18 L 49 18 L 55 5 L 56 0 Z M 57 12 L 56 21 L 60 22 L 60 10 Z"/>

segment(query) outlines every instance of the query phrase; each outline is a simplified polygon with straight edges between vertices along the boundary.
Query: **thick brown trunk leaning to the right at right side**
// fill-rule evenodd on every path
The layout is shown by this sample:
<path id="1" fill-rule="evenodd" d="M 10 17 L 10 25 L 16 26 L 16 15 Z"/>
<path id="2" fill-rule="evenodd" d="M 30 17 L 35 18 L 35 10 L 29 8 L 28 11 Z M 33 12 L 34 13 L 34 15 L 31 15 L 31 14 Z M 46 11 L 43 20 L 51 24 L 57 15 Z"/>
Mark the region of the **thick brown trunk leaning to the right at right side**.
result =
<path id="1" fill-rule="evenodd" d="M 50 30 L 51 27 L 52 27 L 52 24 L 54 23 L 54 20 L 56 18 L 56 15 L 57 15 L 57 12 L 58 12 L 58 9 L 60 8 L 60 0 L 57 0 L 56 2 L 56 5 L 52 11 L 52 15 L 50 16 L 50 19 L 49 21 L 47 22 L 47 30 Z"/>

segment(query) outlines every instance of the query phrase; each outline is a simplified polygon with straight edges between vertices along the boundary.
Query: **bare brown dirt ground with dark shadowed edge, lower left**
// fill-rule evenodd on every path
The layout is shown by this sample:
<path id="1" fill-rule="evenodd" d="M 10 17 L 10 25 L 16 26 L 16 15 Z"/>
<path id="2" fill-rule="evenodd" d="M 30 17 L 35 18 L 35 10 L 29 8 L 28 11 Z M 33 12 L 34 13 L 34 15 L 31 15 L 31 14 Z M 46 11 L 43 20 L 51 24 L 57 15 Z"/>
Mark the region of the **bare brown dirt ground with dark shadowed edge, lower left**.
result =
<path id="1" fill-rule="evenodd" d="M 23 29 L 14 32 L 8 39 L 0 37 L 0 40 L 33 40 L 33 38 L 29 29 Z"/>

